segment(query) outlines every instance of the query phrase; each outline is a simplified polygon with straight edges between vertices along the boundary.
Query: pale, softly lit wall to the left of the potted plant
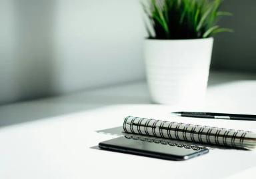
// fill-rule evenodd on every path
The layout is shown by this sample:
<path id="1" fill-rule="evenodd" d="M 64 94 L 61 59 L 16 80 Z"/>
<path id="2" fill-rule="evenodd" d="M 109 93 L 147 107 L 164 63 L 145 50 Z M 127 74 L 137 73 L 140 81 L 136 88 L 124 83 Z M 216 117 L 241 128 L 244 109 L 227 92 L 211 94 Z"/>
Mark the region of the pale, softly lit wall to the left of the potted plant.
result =
<path id="1" fill-rule="evenodd" d="M 144 78 L 139 0 L 0 0 L 0 104 Z"/>

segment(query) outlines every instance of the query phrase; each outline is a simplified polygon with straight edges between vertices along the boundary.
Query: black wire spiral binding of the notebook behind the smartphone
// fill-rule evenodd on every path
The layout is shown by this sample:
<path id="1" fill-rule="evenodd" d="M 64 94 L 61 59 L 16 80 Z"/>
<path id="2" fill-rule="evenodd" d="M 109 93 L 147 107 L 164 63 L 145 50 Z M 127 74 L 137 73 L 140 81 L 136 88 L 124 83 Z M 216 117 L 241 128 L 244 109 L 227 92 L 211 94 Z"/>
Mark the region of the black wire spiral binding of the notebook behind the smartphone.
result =
<path id="1" fill-rule="evenodd" d="M 255 135 L 253 137 L 249 135 L 255 133 L 244 130 L 184 124 L 134 116 L 125 117 L 123 130 L 126 133 L 132 134 L 185 140 L 202 144 L 231 146 L 235 148 L 254 147 L 256 140 L 254 138 Z"/>

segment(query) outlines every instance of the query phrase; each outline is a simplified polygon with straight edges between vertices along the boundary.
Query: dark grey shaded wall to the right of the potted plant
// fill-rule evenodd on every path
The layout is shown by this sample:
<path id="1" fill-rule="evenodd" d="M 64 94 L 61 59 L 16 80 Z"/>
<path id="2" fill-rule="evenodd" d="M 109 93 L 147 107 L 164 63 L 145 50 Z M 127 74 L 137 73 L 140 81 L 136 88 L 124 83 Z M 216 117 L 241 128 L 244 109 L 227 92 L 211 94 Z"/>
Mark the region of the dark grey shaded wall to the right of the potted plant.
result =
<path id="1" fill-rule="evenodd" d="M 233 17 L 221 20 L 234 33 L 215 36 L 212 67 L 229 71 L 256 72 L 256 1 L 225 0 L 223 10 Z"/>

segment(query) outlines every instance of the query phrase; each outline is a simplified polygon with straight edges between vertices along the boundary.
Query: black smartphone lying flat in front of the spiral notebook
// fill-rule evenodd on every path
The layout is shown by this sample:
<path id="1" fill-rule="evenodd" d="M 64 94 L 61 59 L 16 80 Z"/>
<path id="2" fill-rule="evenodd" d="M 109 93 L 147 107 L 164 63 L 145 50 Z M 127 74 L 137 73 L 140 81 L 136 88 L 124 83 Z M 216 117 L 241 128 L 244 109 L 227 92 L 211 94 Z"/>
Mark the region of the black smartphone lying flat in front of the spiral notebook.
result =
<path id="1" fill-rule="evenodd" d="M 99 148 L 167 160 L 187 160 L 209 152 L 207 148 L 197 146 L 127 136 L 100 142 Z"/>

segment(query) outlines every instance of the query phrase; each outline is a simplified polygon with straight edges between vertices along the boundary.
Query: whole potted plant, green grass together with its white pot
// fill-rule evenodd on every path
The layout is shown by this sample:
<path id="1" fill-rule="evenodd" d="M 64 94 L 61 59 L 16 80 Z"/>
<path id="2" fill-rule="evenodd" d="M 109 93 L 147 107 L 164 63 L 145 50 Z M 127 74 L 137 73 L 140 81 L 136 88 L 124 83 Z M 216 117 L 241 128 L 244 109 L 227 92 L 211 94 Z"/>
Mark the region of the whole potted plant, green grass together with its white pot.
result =
<path id="1" fill-rule="evenodd" d="M 230 32 L 217 25 L 222 0 L 143 1 L 145 66 L 154 102 L 161 104 L 203 104 L 213 35 Z"/>

